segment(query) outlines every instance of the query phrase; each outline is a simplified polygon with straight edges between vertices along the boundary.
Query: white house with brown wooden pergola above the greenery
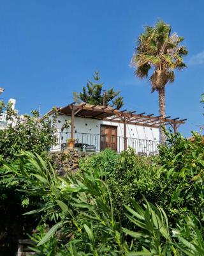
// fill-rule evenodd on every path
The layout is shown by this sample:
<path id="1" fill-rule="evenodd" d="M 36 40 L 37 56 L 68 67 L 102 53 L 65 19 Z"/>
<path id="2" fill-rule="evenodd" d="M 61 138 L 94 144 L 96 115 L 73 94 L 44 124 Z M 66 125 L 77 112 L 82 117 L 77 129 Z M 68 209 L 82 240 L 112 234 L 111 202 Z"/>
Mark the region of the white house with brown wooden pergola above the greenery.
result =
<path id="1" fill-rule="evenodd" d="M 185 120 L 169 119 L 170 116 L 145 115 L 136 111 L 119 111 L 110 106 L 93 106 L 90 104 L 69 104 L 58 108 L 57 129 L 58 145 L 52 150 L 66 146 L 69 138 L 75 139 L 75 147 L 81 150 L 99 152 L 112 148 L 117 152 L 128 147 L 135 149 L 136 154 L 157 154 L 159 145 L 159 127 L 171 125 L 174 131 Z M 52 118 L 53 111 L 48 112 Z M 71 127 L 61 130 L 64 123 L 70 120 Z"/>

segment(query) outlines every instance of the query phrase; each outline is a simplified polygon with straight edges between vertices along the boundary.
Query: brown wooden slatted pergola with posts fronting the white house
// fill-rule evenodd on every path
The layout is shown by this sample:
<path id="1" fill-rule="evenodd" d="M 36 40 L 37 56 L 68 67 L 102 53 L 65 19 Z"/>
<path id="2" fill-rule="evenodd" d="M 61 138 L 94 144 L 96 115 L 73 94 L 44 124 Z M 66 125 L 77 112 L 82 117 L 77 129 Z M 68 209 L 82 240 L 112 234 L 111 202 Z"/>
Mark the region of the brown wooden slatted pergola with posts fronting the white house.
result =
<path id="1" fill-rule="evenodd" d="M 136 111 L 127 111 L 127 109 L 119 111 L 110 106 L 90 105 L 84 102 L 81 104 L 73 102 L 64 108 L 59 108 L 59 113 L 61 115 L 71 116 L 71 138 L 74 137 L 75 116 L 124 124 L 124 150 L 127 149 L 127 124 L 153 128 L 171 125 L 173 131 L 177 132 L 177 128 L 181 124 L 185 124 L 185 121 L 187 120 L 180 120 L 179 117 L 170 119 L 171 116 L 154 116 L 154 114 L 146 115 L 145 112 L 137 114 Z"/>

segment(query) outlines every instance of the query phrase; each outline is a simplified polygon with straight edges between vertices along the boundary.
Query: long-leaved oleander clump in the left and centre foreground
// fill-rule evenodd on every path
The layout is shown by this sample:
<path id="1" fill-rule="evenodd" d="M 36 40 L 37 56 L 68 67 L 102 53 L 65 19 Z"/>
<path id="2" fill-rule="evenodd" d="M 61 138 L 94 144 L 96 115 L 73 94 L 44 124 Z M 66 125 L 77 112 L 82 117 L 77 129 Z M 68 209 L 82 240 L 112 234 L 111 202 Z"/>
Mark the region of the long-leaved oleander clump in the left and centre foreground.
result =
<path id="1" fill-rule="evenodd" d="M 47 195 L 52 202 L 31 213 L 45 212 L 46 216 L 55 213 L 61 220 L 39 245 L 61 229 L 67 236 L 75 237 L 68 243 L 70 250 L 79 253 L 76 255 L 86 255 L 87 252 L 93 253 L 87 255 L 117 255 L 122 250 L 118 232 L 120 226 L 115 218 L 117 214 L 113 212 L 110 191 L 102 180 L 95 178 L 91 172 L 62 179 L 55 175 L 51 165 L 47 166 L 40 156 L 31 153 L 22 154 L 22 161 L 23 170 L 13 164 L 4 166 L 18 175 L 18 179 L 29 182 L 30 189 L 26 189 L 28 195 Z"/>

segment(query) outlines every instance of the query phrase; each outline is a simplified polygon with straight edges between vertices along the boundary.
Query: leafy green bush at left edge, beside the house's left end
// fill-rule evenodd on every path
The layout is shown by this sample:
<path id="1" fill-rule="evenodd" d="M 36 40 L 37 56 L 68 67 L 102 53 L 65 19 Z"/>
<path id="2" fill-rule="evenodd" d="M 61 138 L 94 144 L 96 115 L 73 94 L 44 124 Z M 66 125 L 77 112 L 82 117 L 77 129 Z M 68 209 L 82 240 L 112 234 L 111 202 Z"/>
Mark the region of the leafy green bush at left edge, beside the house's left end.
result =
<path id="1" fill-rule="evenodd" d="M 54 109 L 54 120 L 48 116 L 39 118 L 38 111 L 31 111 L 32 116 L 19 116 L 11 108 L 1 102 L 0 113 L 6 111 L 8 126 L 0 130 L 0 155 L 10 162 L 15 159 L 19 150 L 30 150 L 38 154 L 45 152 L 57 142 L 55 136 L 57 110 Z"/>

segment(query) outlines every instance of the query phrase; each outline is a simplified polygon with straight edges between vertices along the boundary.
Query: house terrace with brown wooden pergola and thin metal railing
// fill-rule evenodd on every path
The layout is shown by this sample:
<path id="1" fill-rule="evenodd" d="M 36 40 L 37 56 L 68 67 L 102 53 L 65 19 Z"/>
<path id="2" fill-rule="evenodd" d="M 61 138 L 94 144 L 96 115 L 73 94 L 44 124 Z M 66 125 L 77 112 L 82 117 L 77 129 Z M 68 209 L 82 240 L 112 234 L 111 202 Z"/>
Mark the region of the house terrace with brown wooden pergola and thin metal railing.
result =
<path id="1" fill-rule="evenodd" d="M 136 111 L 127 111 L 126 109 L 119 111 L 110 106 L 93 106 L 75 102 L 58 109 L 60 115 L 71 116 L 71 131 L 59 132 L 58 145 L 53 150 L 61 150 L 66 147 L 68 139 L 75 139 L 75 147 L 80 150 L 92 150 L 100 152 L 104 148 L 112 148 L 121 152 L 128 147 L 135 148 L 136 154 L 152 155 L 157 154 L 159 141 L 144 140 L 142 138 L 131 138 L 127 136 L 127 125 L 138 125 L 139 127 L 159 128 L 170 125 L 174 132 L 177 132 L 181 124 L 185 124 L 186 119 L 180 118 L 170 119 L 171 116 L 154 116 L 154 114 L 146 115 L 145 113 L 136 113 Z M 103 120 L 111 123 L 122 124 L 123 134 L 118 136 L 117 131 L 100 133 L 87 133 L 75 131 L 75 117 L 89 118 L 94 120 Z"/>

